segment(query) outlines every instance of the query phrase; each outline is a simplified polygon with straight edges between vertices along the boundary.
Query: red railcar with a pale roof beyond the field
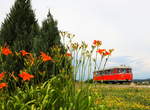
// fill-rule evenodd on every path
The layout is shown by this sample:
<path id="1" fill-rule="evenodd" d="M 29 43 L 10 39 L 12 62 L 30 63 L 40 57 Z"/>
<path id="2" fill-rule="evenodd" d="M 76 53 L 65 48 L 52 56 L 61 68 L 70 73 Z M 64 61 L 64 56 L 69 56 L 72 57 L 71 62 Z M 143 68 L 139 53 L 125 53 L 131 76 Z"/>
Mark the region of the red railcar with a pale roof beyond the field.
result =
<path id="1" fill-rule="evenodd" d="M 95 82 L 131 82 L 133 80 L 132 68 L 117 66 L 93 72 Z"/>

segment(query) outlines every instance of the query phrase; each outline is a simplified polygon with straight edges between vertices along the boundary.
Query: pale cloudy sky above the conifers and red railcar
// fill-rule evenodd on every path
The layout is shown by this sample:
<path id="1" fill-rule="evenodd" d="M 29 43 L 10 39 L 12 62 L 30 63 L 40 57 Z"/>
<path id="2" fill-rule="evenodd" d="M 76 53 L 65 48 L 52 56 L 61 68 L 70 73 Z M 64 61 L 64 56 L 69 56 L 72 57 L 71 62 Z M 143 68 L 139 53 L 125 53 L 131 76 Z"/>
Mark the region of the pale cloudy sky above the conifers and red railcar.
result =
<path id="1" fill-rule="evenodd" d="M 15 0 L 0 0 L 0 24 Z M 150 0 L 32 0 L 41 22 L 50 9 L 58 28 L 88 44 L 114 48 L 107 66 L 127 65 L 134 79 L 150 78 Z"/>

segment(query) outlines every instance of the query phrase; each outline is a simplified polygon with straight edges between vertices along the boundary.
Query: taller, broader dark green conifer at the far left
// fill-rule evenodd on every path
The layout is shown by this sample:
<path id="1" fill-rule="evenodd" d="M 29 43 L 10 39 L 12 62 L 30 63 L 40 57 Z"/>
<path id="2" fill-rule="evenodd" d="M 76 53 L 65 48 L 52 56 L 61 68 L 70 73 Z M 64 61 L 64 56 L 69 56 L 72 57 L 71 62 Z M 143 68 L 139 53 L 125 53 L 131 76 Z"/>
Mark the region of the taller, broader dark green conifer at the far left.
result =
<path id="1" fill-rule="evenodd" d="M 0 31 L 0 44 L 15 50 L 32 49 L 32 40 L 39 33 L 39 26 L 30 0 L 16 0 L 5 18 Z"/>

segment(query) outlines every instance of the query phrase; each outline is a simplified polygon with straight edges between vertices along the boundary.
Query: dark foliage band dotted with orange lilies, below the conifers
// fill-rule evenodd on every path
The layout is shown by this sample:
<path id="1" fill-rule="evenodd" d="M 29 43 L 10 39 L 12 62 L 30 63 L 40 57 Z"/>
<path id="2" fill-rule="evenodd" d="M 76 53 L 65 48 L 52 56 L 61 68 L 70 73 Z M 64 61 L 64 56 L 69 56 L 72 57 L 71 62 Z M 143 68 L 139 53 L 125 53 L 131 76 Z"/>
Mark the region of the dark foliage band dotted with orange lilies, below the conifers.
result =
<path id="1" fill-rule="evenodd" d="M 0 80 L 8 83 L 9 91 L 14 91 L 18 86 L 22 88 L 26 80 L 32 79 L 29 85 L 34 85 L 47 81 L 58 73 L 72 74 L 70 61 L 68 62 L 69 57 L 66 54 L 61 54 L 59 47 L 52 50 L 53 58 L 44 52 L 36 56 L 34 53 L 25 50 L 13 52 L 8 47 L 1 47 Z M 18 65 L 22 68 L 16 68 Z M 49 66 L 51 65 L 50 69 Z"/>

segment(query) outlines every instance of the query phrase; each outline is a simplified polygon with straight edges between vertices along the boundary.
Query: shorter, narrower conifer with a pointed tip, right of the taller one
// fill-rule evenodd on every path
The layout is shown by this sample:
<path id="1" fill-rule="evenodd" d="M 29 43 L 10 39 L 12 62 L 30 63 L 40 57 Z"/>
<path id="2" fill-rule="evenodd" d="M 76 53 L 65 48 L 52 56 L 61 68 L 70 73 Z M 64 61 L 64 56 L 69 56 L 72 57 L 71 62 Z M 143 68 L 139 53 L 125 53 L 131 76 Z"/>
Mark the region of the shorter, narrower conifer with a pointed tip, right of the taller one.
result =
<path id="1" fill-rule="evenodd" d="M 41 37 L 44 42 L 43 51 L 47 51 L 54 45 L 61 45 L 57 21 L 53 19 L 50 11 L 47 18 L 42 22 Z"/>

